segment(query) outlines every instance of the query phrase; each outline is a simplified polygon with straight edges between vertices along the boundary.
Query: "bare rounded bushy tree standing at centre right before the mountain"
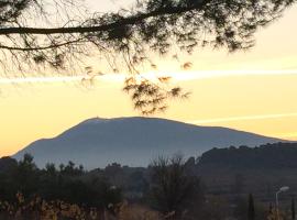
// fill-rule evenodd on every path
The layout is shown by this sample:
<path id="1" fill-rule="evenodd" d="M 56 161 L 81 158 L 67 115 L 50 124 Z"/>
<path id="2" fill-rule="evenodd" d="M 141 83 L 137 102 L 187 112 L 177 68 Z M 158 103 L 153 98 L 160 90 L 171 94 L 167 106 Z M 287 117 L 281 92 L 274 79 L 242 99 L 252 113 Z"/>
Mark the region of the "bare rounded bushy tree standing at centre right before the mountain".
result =
<path id="1" fill-rule="evenodd" d="M 180 218 L 184 211 L 199 208 L 202 190 L 180 155 L 160 157 L 151 165 L 153 206 L 168 217 Z"/>

